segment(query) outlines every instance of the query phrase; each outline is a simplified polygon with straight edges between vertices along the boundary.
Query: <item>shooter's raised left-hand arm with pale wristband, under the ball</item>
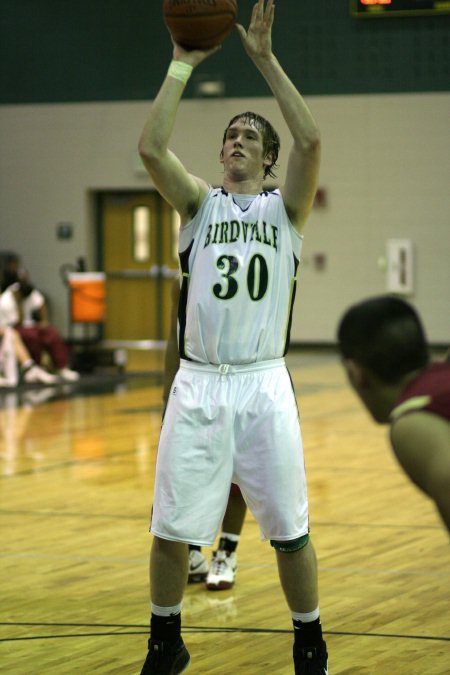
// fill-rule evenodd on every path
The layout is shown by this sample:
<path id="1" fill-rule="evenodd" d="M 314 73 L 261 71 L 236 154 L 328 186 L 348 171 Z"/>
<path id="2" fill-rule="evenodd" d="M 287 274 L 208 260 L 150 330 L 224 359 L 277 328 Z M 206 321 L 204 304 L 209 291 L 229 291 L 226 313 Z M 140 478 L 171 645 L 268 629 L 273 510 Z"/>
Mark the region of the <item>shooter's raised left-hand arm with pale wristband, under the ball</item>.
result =
<path id="1" fill-rule="evenodd" d="M 181 216 L 189 220 L 207 193 L 205 181 L 185 169 L 169 150 L 178 105 L 193 68 L 215 49 L 186 51 L 174 44 L 173 60 L 153 101 L 139 140 L 139 154 L 158 192 Z"/>

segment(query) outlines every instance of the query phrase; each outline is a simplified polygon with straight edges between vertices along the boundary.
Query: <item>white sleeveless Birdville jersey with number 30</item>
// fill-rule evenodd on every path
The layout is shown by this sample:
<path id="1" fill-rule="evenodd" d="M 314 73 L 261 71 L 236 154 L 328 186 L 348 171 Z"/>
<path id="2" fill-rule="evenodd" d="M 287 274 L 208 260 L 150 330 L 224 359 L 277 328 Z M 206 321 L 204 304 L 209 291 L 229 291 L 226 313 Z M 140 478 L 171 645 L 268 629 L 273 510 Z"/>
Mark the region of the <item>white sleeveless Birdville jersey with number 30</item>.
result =
<path id="1" fill-rule="evenodd" d="M 182 358 L 242 364 L 288 348 L 302 236 L 279 190 L 210 188 L 180 231 Z"/>

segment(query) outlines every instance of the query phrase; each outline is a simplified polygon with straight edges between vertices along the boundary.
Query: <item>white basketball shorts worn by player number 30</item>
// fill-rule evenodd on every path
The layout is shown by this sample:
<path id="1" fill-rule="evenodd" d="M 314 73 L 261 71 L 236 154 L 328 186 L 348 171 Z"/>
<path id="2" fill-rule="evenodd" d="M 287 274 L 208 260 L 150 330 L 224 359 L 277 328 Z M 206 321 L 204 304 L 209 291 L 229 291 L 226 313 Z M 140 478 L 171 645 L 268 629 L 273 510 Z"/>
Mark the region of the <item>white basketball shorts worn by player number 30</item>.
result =
<path id="1" fill-rule="evenodd" d="M 240 366 L 182 360 L 159 441 L 151 532 L 212 546 L 232 482 L 263 540 L 307 534 L 299 415 L 284 359 Z"/>

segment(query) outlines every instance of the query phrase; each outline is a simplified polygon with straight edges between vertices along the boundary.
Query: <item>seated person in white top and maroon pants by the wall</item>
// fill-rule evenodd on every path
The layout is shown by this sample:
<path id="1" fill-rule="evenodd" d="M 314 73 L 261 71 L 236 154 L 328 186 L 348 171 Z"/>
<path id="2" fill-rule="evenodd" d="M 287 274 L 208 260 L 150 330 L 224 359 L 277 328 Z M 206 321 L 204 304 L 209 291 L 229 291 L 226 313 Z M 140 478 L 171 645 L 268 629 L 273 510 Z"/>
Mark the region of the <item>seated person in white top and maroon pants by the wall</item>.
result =
<path id="1" fill-rule="evenodd" d="M 75 382 L 79 379 L 79 373 L 68 367 L 67 345 L 58 329 L 48 322 L 44 296 L 26 278 L 19 278 L 0 295 L 0 326 L 17 330 L 38 365 L 45 351 L 63 380 Z"/>

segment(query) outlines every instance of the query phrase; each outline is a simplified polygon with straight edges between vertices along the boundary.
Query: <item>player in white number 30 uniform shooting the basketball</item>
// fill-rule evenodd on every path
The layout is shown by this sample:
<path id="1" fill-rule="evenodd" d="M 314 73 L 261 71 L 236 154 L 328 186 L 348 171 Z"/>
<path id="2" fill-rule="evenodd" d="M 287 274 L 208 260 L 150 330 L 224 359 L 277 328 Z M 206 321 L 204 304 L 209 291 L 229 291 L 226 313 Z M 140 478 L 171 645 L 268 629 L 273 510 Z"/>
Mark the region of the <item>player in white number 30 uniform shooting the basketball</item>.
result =
<path id="1" fill-rule="evenodd" d="M 231 482 L 276 551 L 295 628 L 295 673 L 328 672 L 299 417 L 283 358 L 302 232 L 317 188 L 320 136 L 272 52 L 273 18 L 273 1 L 259 0 L 248 32 L 242 26 L 238 31 L 292 136 L 280 190 L 263 191 L 264 178 L 273 176 L 279 138 L 255 113 L 236 115 L 225 130 L 222 188 L 188 173 L 168 149 L 185 83 L 215 50 L 174 45 L 140 139 L 155 187 L 180 214 L 182 277 L 181 361 L 158 449 L 151 639 L 141 675 L 181 673 L 189 664 L 181 639 L 186 544 L 212 545 Z"/>

